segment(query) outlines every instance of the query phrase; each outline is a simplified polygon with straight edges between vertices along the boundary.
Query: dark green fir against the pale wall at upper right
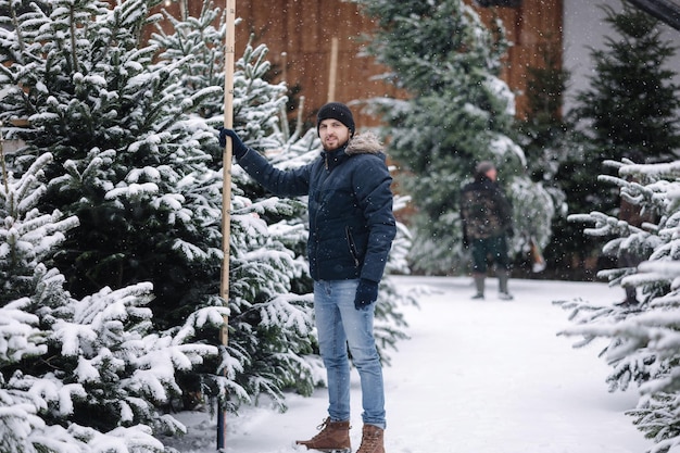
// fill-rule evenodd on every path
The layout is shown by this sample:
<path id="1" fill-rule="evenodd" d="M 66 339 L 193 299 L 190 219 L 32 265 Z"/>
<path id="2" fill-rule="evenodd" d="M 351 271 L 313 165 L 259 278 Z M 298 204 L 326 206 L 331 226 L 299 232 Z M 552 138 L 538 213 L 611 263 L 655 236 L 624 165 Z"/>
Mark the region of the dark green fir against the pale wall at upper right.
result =
<path id="1" fill-rule="evenodd" d="M 590 122 L 587 158 L 590 163 L 669 162 L 680 148 L 680 87 L 667 65 L 677 47 L 647 13 L 626 3 L 618 12 L 602 8 L 616 35 L 606 37 L 604 49 L 592 50 L 594 75 L 578 93 L 574 112 Z"/>

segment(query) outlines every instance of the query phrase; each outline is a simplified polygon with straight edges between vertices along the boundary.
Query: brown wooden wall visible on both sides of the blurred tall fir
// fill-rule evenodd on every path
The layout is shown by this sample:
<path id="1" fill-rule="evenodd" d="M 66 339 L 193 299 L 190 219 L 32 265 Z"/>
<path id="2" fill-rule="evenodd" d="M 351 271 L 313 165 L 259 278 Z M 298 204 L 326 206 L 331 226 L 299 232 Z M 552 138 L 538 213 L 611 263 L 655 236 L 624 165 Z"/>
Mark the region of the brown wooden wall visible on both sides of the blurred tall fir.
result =
<path id="1" fill-rule="evenodd" d="M 180 0 L 181 1 L 181 0 Z M 197 14 L 202 0 L 186 0 Z M 218 2 L 217 2 L 218 4 Z M 177 3 L 168 8 L 178 9 Z M 563 0 L 522 0 L 518 8 L 476 8 L 484 21 L 498 14 L 511 47 L 502 78 L 518 95 L 517 111 L 525 109 L 526 68 L 542 65 L 547 48 L 562 51 Z M 351 102 L 377 96 L 399 96 L 393 87 L 372 80 L 383 68 L 358 56 L 357 38 L 373 28 L 354 3 L 341 0 L 236 0 L 237 58 L 250 35 L 269 48 L 275 80 L 298 85 L 305 97 L 305 116 L 313 118 L 327 101 Z M 336 42 L 333 45 L 333 41 Z M 337 45 L 337 47 L 335 47 Z M 337 50 L 337 59 L 331 58 Z M 337 61 L 335 74 L 331 64 Z M 332 80 L 335 79 L 335 84 Z M 357 114 L 357 127 L 375 124 Z"/>

